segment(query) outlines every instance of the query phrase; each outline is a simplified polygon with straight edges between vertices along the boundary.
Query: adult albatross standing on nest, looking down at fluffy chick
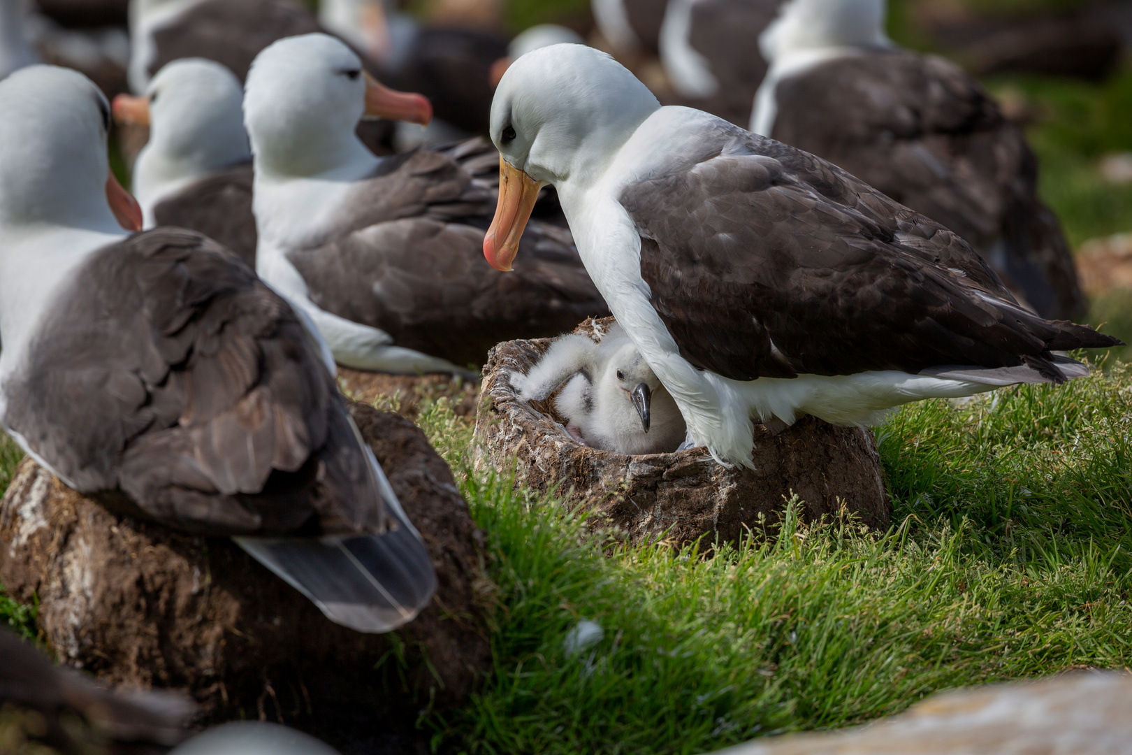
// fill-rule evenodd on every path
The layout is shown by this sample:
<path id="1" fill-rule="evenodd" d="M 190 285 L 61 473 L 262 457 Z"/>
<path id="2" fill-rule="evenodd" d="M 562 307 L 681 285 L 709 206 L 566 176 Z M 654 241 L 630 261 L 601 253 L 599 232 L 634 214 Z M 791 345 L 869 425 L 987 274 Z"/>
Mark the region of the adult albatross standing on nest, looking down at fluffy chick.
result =
<path id="1" fill-rule="evenodd" d="M 752 415 L 865 424 L 929 396 L 1086 375 L 1053 351 L 1118 343 L 1023 309 L 959 237 L 831 163 L 661 108 L 590 48 L 515 61 L 491 138 L 488 261 L 512 267 L 530 198 L 552 183 L 688 443 L 723 462 L 752 463 Z"/>

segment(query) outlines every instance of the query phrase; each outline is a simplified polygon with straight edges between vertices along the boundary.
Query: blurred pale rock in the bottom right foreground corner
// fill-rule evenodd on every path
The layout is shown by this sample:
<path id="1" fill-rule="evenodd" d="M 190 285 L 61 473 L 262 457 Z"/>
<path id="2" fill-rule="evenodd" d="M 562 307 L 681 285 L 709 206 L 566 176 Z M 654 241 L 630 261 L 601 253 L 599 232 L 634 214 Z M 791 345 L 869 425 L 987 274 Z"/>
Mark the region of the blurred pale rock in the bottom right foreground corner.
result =
<path id="1" fill-rule="evenodd" d="M 935 695 L 830 733 L 770 737 L 718 755 L 1132 755 L 1132 676 L 1077 672 Z"/>

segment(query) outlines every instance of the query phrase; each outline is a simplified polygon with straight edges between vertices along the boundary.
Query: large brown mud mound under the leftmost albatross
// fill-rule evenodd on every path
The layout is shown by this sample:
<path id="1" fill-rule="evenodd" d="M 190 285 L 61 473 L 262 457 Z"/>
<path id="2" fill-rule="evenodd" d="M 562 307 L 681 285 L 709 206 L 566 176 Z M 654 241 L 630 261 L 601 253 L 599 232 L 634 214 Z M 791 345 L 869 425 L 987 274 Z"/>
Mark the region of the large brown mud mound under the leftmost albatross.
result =
<path id="1" fill-rule="evenodd" d="M 38 598 L 63 663 L 127 687 L 183 689 L 198 723 L 271 720 L 329 744 L 404 732 L 491 668 L 478 540 L 452 472 L 419 428 L 351 402 L 432 555 L 432 603 L 389 635 L 332 624 L 228 539 L 112 514 L 24 460 L 0 501 L 0 584 Z"/>

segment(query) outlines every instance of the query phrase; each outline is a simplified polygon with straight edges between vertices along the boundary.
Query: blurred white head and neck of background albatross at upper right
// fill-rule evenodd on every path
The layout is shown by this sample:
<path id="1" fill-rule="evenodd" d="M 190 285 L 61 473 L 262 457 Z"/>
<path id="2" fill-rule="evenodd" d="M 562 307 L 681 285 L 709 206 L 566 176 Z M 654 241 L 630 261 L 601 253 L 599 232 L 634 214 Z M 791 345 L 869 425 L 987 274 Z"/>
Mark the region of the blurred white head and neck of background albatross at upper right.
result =
<path id="1" fill-rule="evenodd" d="M 868 48 L 891 48 L 884 32 L 885 0 L 790 0 L 758 36 L 769 63 L 755 93 L 751 130 L 770 136 L 777 108 L 774 89 L 787 77 Z"/>

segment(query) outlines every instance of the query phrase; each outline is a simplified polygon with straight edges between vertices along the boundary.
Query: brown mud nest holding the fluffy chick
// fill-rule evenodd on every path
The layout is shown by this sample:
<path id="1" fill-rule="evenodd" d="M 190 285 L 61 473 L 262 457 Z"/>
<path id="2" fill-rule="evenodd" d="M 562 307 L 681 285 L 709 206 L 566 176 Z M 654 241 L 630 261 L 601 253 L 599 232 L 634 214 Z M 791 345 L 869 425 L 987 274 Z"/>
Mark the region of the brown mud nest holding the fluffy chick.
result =
<path id="1" fill-rule="evenodd" d="M 575 333 L 594 334 L 606 320 L 586 320 Z M 736 541 L 760 516 L 773 524 L 791 492 L 803 517 L 837 515 L 843 505 L 871 527 L 889 524 L 891 506 L 869 430 L 804 418 L 777 436 L 755 428 L 757 472 L 727 469 L 703 448 L 628 456 L 580 445 L 554 417 L 551 400 L 525 402 L 508 371 L 526 372 L 550 338 L 508 341 L 488 354 L 475 419 L 475 466 L 509 472 L 537 491 L 557 488 L 569 506 L 600 514 L 632 541 L 667 537 L 685 543 L 706 534 Z M 667 534 L 666 534 L 667 533 Z"/>

